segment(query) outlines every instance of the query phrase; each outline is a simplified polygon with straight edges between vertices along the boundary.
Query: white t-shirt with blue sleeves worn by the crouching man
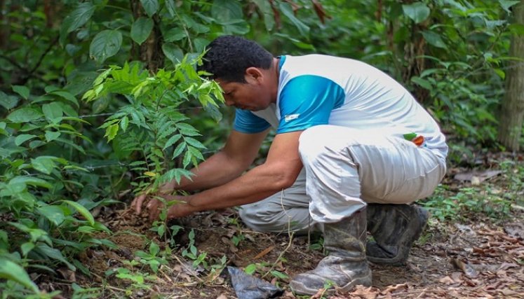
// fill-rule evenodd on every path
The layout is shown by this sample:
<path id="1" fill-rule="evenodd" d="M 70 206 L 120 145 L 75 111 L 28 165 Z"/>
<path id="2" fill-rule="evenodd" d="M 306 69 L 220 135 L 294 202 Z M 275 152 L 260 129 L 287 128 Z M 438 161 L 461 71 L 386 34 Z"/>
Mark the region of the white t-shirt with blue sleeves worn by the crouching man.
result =
<path id="1" fill-rule="evenodd" d="M 403 137 L 415 133 L 424 146 L 448 153 L 437 123 L 400 83 L 375 67 L 328 55 L 280 57 L 276 104 L 262 111 L 236 109 L 234 130 L 276 133 L 315 125 L 340 125 Z"/>

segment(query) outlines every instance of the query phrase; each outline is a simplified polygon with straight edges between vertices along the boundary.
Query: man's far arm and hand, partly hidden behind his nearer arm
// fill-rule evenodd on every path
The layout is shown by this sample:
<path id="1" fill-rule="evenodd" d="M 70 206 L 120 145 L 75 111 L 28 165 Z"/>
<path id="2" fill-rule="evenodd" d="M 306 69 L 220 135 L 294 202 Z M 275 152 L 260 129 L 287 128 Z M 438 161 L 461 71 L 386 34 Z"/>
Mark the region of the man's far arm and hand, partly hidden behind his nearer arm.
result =
<path id="1" fill-rule="evenodd" d="M 160 192 L 166 194 L 175 189 L 192 191 L 213 188 L 235 179 L 253 163 L 268 132 L 269 129 L 256 134 L 232 131 L 221 151 L 191 170 L 194 174 L 191 179 L 182 177 L 178 184 L 175 180 L 165 183 Z M 142 193 L 131 203 L 137 214 L 142 211 L 146 198 L 147 194 Z"/>

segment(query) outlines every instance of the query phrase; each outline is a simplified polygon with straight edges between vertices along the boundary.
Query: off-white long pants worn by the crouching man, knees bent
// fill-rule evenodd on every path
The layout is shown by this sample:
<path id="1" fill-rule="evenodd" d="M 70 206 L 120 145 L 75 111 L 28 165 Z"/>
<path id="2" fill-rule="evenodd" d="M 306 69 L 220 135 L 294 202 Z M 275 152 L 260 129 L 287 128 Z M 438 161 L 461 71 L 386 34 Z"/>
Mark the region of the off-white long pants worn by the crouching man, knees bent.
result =
<path id="1" fill-rule="evenodd" d="M 333 125 L 305 130 L 299 153 L 304 168 L 293 186 L 241 207 L 253 230 L 304 232 L 347 218 L 367 202 L 415 202 L 433 193 L 446 169 L 441 151 Z"/>

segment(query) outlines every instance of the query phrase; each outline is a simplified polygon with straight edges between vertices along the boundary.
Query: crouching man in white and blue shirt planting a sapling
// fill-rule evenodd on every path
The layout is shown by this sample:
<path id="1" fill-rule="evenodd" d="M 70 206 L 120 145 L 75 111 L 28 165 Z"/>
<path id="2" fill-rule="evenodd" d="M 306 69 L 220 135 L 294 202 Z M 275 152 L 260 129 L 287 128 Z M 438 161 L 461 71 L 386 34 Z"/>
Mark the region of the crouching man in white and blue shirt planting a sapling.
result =
<path id="1" fill-rule="evenodd" d="M 431 195 L 445 174 L 448 146 L 429 113 L 363 62 L 273 57 L 237 36 L 208 48 L 202 69 L 236 107 L 234 128 L 222 151 L 192 170 L 191 181 L 161 188 L 167 200 L 184 202 L 168 216 L 242 205 L 241 218 L 255 230 L 315 225 L 330 253 L 291 281 L 299 294 L 313 295 L 328 281 L 344 291 L 370 286 L 368 260 L 405 263 L 428 217 L 408 203 Z M 271 127 L 267 160 L 243 174 Z M 174 197 L 171 190 L 204 191 Z M 138 213 L 146 197 L 133 201 Z M 156 218 L 159 202 L 147 207 Z M 375 242 L 366 244 L 366 225 Z"/>

